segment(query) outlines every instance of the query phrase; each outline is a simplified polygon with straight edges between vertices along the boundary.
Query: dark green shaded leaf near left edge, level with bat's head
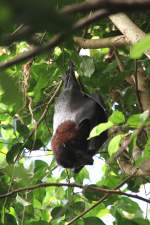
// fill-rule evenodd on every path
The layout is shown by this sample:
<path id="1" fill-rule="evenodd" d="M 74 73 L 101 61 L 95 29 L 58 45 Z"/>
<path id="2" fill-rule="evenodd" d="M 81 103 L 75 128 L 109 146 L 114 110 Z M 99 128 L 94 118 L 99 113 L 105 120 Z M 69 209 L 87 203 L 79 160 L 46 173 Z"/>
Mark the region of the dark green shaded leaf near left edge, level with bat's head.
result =
<path id="1" fill-rule="evenodd" d="M 6 160 L 9 164 L 15 163 L 16 157 L 23 152 L 23 144 L 22 143 L 17 143 L 14 144 L 9 152 L 6 155 Z"/>

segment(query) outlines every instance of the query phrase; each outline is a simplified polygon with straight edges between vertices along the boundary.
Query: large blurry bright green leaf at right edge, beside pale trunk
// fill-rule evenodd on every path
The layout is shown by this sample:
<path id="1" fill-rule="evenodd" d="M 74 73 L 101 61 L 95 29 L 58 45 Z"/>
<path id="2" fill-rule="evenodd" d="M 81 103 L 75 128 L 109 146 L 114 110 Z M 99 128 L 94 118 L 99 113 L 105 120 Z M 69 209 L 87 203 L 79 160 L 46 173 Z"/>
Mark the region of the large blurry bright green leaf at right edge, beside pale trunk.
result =
<path id="1" fill-rule="evenodd" d="M 150 49 L 150 34 L 146 35 L 133 45 L 130 51 L 130 57 L 132 59 L 139 59 L 148 49 Z"/>

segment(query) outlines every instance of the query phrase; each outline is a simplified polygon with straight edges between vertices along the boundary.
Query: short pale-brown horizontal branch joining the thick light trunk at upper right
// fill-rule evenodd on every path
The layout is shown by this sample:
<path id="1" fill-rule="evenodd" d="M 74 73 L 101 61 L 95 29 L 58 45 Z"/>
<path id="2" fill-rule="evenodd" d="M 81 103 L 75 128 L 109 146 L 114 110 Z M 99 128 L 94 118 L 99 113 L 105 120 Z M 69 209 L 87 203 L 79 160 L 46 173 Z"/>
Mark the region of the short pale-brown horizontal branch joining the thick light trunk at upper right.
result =
<path id="1" fill-rule="evenodd" d="M 81 37 L 74 37 L 73 40 L 77 45 L 80 46 L 80 48 L 88 49 L 119 47 L 129 44 L 129 41 L 125 38 L 124 35 L 101 39 L 85 39 Z"/>

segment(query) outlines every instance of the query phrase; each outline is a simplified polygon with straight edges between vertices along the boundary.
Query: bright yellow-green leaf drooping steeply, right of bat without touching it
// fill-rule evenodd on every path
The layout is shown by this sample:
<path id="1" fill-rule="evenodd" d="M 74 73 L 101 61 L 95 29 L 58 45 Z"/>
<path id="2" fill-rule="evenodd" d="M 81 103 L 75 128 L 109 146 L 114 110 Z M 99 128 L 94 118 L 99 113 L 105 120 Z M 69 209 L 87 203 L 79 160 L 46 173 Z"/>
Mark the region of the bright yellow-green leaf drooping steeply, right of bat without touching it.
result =
<path id="1" fill-rule="evenodd" d="M 112 156 L 118 151 L 123 137 L 124 137 L 124 134 L 118 134 L 111 139 L 108 145 L 108 153 L 110 156 Z"/>

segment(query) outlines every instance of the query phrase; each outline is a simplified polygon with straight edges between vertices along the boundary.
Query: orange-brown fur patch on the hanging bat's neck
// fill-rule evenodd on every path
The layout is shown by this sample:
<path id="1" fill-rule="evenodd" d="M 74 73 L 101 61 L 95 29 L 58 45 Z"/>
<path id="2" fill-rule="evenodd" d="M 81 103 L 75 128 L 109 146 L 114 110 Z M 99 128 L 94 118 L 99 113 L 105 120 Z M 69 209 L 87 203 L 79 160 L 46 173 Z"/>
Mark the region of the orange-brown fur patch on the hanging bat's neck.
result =
<path id="1" fill-rule="evenodd" d="M 58 151 L 60 145 L 65 144 L 67 141 L 73 139 L 77 135 L 77 127 L 75 122 L 71 120 L 66 120 L 65 122 L 61 123 L 56 130 L 52 138 L 52 150 L 54 152 Z"/>

